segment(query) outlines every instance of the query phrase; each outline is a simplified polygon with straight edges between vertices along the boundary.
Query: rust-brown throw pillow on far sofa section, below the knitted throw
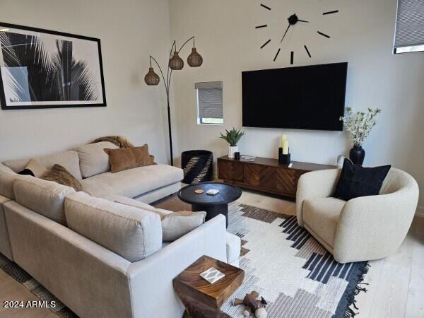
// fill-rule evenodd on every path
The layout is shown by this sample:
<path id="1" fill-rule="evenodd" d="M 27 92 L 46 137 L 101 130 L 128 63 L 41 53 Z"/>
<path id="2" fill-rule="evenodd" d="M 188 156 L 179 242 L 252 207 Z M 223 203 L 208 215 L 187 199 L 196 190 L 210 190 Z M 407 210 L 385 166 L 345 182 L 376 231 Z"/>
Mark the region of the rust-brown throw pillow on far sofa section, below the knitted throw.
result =
<path id="1" fill-rule="evenodd" d="M 134 148 L 106 148 L 105 152 L 109 155 L 110 172 L 112 173 L 156 164 L 153 155 L 148 153 L 147 144 Z"/>

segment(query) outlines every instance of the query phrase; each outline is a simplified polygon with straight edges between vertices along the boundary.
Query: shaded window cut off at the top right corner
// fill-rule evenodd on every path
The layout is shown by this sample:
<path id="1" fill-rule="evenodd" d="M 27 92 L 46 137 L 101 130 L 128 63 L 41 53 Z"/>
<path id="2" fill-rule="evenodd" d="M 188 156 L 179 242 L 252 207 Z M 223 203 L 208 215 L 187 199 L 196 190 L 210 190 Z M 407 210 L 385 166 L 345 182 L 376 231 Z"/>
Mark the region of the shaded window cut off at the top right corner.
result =
<path id="1" fill-rule="evenodd" d="M 398 0 L 394 53 L 424 51 L 424 1 Z"/>

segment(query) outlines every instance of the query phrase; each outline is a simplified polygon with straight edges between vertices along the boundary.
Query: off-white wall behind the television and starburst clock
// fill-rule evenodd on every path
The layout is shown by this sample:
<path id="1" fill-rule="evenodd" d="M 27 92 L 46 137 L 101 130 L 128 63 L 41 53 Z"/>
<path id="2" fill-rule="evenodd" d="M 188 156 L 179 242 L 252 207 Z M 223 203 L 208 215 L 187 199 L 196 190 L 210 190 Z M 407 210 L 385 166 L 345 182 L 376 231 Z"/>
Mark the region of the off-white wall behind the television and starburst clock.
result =
<path id="1" fill-rule="evenodd" d="M 261 8 L 261 2 L 272 11 Z M 340 13 L 322 16 L 334 9 Z M 288 46 L 273 62 L 286 18 L 292 13 L 311 23 L 289 31 Z M 424 53 L 391 54 L 396 0 L 171 0 L 170 14 L 173 37 L 182 41 L 196 35 L 196 46 L 204 57 L 201 68 L 176 75 L 179 152 L 204 148 L 216 156 L 225 155 L 227 145 L 218 139 L 219 131 L 242 126 L 241 72 L 290 66 L 289 52 L 294 50 L 295 66 L 348 61 L 346 105 L 383 110 L 365 141 L 365 165 L 392 164 L 410 172 L 424 187 Z M 255 30 L 261 24 L 269 28 Z M 317 30 L 331 39 L 317 35 Z M 270 45 L 260 49 L 269 38 Z M 303 45 L 310 48 L 312 59 Z M 198 81 L 223 81 L 224 126 L 196 124 L 194 83 Z M 276 158 L 278 137 L 283 133 L 290 139 L 293 160 L 334 164 L 336 156 L 350 148 L 348 136 L 341 132 L 245 130 L 240 150 L 252 155 Z"/>

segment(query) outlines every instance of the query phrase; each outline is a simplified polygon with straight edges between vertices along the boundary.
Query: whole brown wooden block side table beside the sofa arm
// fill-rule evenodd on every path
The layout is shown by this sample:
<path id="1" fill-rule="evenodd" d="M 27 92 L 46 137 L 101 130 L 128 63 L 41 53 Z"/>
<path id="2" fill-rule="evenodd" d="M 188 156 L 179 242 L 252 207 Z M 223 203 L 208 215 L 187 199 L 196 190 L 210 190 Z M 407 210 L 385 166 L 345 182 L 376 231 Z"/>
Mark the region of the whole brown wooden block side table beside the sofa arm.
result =
<path id="1" fill-rule="evenodd" d="M 200 277 L 200 273 L 211 267 L 225 274 L 224 278 L 214 284 Z M 216 314 L 213 317 L 230 317 L 219 308 L 242 285 L 244 279 L 245 271 L 242 269 L 203 256 L 175 277 L 173 283 L 175 292 L 186 307 L 184 317 L 200 318 L 208 317 L 209 314 Z"/>

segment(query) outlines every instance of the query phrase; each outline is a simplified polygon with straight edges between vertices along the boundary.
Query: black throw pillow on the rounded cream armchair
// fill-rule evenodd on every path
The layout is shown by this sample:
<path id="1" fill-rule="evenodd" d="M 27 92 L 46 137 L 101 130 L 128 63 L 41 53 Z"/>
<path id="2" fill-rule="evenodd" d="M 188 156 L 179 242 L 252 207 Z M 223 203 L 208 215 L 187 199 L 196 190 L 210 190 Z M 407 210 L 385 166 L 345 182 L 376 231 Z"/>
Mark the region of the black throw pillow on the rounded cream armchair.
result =
<path id="1" fill-rule="evenodd" d="M 379 194 L 390 167 L 390 165 L 362 167 L 345 159 L 333 196 L 348 201 L 360 196 Z"/>

